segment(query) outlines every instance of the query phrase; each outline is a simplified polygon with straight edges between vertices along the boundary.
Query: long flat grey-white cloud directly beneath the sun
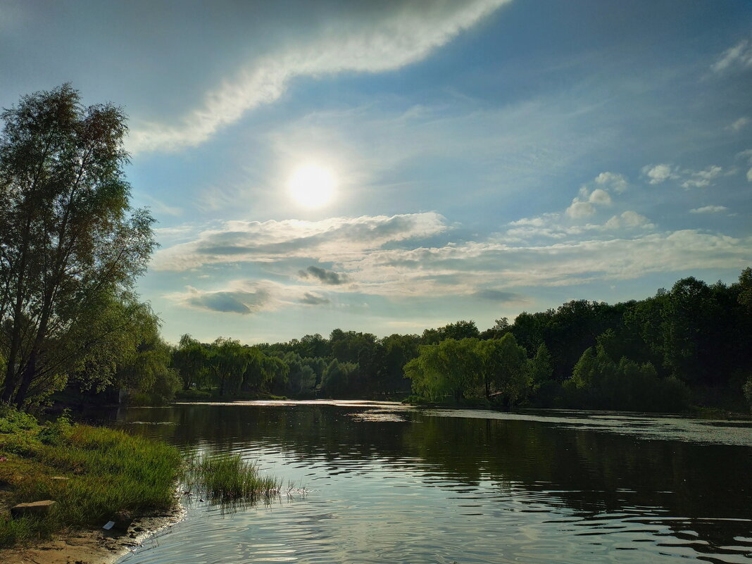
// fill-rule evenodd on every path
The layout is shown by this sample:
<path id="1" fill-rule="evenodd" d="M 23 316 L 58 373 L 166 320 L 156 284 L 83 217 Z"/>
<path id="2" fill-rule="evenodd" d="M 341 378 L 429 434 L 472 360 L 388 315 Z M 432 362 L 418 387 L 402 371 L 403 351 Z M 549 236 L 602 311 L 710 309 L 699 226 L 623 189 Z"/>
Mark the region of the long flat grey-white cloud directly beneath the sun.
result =
<path id="1" fill-rule="evenodd" d="M 195 241 L 158 250 L 151 267 L 186 271 L 207 264 L 276 262 L 314 256 L 320 262 L 332 262 L 350 253 L 426 238 L 447 229 L 444 217 L 435 212 L 331 217 L 320 221 L 226 221 L 216 229 L 199 233 Z"/>

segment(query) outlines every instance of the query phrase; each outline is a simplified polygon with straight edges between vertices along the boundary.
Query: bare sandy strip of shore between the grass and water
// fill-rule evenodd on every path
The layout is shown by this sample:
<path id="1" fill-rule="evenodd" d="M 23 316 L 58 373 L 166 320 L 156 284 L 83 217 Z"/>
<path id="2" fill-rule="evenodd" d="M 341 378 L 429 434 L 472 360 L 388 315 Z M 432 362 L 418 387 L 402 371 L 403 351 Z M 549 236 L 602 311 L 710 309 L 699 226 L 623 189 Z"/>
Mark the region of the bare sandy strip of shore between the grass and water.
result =
<path id="1" fill-rule="evenodd" d="M 141 546 L 150 535 L 174 525 L 185 509 L 176 502 L 172 511 L 160 511 L 133 522 L 126 533 L 105 529 L 81 530 L 60 535 L 33 547 L 0 549 L 3 564 L 112 564 Z"/>

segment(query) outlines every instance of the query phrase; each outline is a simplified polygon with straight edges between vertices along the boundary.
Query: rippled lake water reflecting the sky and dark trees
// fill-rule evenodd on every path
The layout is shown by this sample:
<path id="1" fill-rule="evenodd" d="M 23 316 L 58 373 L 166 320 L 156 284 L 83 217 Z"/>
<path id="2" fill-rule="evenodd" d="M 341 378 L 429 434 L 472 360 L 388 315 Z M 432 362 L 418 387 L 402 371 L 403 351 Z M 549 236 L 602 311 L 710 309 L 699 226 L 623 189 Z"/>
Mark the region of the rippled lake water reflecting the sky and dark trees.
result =
<path id="1" fill-rule="evenodd" d="M 367 402 L 134 408 L 112 424 L 241 453 L 306 492 L 194 499 L 123 564 L 752 562 L 749 425 Z"/>

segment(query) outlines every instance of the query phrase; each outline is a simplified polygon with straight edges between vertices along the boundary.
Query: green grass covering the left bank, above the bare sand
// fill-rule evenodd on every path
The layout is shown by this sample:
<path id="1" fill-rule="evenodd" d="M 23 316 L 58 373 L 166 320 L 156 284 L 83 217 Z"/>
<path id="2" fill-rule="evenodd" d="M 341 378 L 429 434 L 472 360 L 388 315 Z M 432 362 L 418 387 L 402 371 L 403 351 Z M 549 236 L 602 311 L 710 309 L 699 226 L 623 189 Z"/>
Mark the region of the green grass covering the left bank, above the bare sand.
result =
<path id="1" fill-rule="evenodd" d="M 117 511 L 174 504 L 181 459 L 173 447 L 66 417 L 40 425 L 0 410 L 0 547 L 102 526 Z M 56 501 L 47 516 L 11 519 L 13 505 L 44 499 Z"/>

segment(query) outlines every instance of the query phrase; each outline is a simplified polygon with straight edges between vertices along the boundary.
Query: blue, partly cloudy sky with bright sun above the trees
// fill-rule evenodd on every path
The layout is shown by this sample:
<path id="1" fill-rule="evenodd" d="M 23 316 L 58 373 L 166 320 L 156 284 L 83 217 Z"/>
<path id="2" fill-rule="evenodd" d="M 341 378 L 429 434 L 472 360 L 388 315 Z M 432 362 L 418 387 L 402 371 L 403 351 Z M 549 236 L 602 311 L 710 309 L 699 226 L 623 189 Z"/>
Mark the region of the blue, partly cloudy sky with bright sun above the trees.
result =
<path id="1" fill-rule="evenodd" d="M 0 106 L 129 115 L 171 342 L 420 333 L 752 265 L 747 0 L 0 0 Z"/>

